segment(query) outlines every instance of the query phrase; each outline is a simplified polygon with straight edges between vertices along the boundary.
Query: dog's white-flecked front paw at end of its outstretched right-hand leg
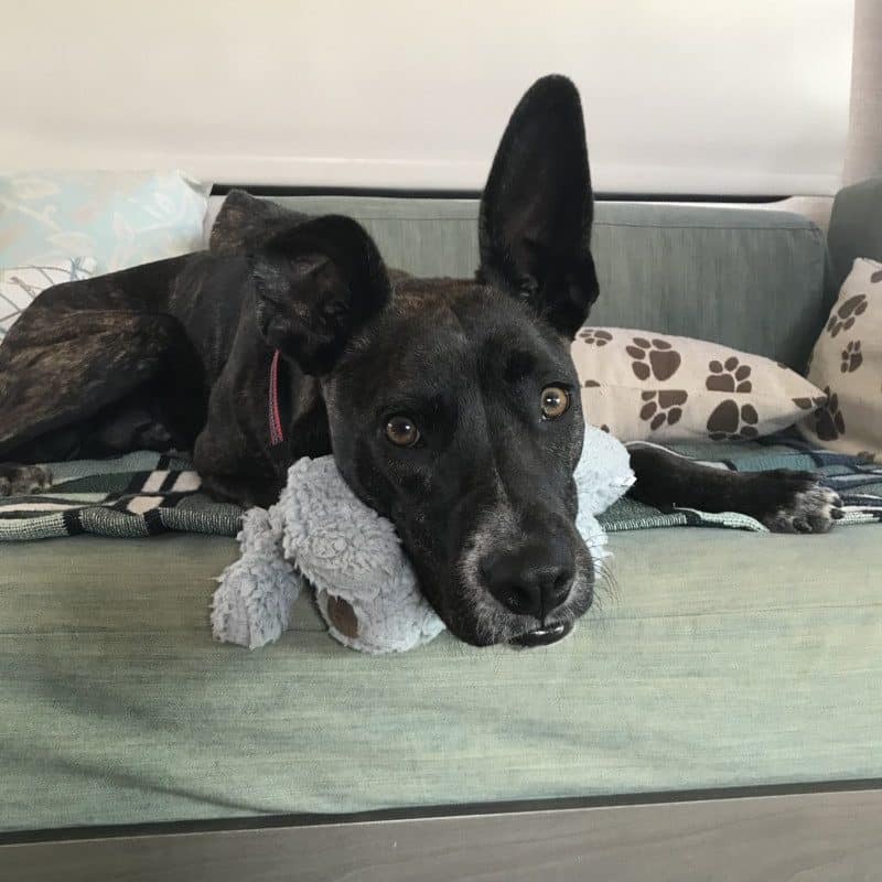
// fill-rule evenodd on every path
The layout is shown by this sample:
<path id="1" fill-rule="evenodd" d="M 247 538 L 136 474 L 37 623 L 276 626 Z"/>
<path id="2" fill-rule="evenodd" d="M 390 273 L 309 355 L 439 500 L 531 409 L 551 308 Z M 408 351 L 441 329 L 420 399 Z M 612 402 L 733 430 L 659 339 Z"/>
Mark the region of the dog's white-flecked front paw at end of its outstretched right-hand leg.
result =
<path id="1" fill-rule="evenodd" d="M 772 533 L 827 533 L 842 517 L 842 501 L 811 472 L 778 469 L 757 473 L 760 520 Z M 765 502 L 767 501 L 767 505 Z"/>

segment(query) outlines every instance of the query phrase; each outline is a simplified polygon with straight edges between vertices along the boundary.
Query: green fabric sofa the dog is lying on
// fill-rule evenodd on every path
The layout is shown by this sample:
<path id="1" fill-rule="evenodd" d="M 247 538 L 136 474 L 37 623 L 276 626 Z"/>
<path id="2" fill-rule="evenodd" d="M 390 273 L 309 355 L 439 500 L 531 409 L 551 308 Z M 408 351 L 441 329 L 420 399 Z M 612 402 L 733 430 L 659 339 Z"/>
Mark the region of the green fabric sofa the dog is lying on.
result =
<path id="1" fill-rule="evenodd" d="M 601 202 L 591 322 L 802 369 L 856 256 L 843 230 L 863 230 L 879 195 L 840 194 L 832 260 L 799 215 Z M 279 201 L 352 214 L 395 267 L 477 262 L 473 201 Z M 0 546 L 0 831 L 882 777 L 880 540 L 874 526 L 616 534 L 617 589 L 560 644 L 444 634 L 379 658 L 334 643 L 303 596 L 279 643 L 213 643 L 229 539 Z"/>

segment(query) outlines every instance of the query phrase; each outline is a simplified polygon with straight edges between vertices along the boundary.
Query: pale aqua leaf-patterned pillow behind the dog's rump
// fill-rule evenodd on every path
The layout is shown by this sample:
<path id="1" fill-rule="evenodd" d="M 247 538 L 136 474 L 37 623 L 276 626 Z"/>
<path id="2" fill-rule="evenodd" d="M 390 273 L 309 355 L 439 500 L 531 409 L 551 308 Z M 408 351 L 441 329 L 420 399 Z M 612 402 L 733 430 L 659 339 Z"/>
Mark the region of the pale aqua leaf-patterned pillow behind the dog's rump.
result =
<path id="1" fill-rule="evenodd" d="M 209 189 L 176 171 L 0 176 L 0 266 L 92 255 L 104 273 L 196 251 Z"/>

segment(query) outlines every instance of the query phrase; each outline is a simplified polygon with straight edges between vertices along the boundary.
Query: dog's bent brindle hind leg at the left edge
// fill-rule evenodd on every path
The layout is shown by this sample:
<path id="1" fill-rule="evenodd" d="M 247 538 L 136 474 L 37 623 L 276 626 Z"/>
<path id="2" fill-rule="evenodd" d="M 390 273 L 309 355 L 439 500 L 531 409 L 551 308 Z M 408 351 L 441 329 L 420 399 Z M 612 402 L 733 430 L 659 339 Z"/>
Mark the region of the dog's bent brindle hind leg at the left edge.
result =
<path id="1" fill-rule="evenodd" d="M 183 345 L 183 329 L 168 315 L 29 310 L 0 348 L 0 458 L 42 459 L 53 433 L 88 424 L 158 376 Z"/>

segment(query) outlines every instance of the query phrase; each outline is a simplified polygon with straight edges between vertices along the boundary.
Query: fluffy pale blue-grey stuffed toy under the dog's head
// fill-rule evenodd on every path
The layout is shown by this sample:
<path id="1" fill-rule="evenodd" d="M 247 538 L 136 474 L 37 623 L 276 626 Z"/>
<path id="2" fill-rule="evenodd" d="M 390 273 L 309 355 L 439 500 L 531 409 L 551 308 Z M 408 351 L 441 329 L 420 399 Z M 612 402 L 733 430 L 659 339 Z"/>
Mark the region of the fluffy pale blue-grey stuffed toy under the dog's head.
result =
<path id="1" fill-rule="evenodd" d="M 577 527 L 598 570 L 610 552 L 594 516 L 633 483 L 624 445 L 587 426 L 576 470 Z M 278 639 L 304 580 L 331 634 L 353 649 L 404 652 L 444 628 L 420 593 L 395 528 L 355 497 L 333 456 L 298 460 L 279 502 L 247 512 L 237 538 L 241 557 L 218 579 L 212 604 L 219 641 L 254 649 Z"/>

